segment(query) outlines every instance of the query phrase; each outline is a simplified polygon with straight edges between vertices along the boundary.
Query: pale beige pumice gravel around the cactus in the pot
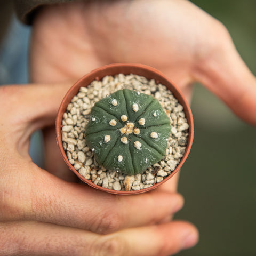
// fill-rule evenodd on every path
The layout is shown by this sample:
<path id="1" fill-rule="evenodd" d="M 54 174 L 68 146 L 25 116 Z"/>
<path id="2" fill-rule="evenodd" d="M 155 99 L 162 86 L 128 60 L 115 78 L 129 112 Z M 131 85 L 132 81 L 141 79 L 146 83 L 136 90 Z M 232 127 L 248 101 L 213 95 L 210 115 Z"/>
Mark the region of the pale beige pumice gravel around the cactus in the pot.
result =
<path id="1" fill-rule="evenodd" d="M 136 175 L 127 175 L 121 173 L 118 169 L 111 171 L 100 166 L 94 158 L 93 148 L 90 149 L 86 145 L 84 138 L 86 125 L 89 122 L 91 108 L 94 104 L 122 89 L 153 96 L 159 101 L 166 115 L 170 118 L 171 124 L 166 154 L 163 159 L 150 166 L 145 172 Z M 111 102 L 113 106 L 116 106 L 117 103 L 115 100 Z M 132 108 L 136 111 L 138 106 L 134 104 Z M 126 121 L 127 116 L 123 115 L 121 118 L 122 121 Z M 138 122 L 143 125 L 145 120 L 141 118 Z M 109 124 L 115 126 L 115 120 L 111 119 Z M 63 148 L 70 164 L 85 179 L 91 180 L 95 185 L 116 191 L 148 188 L 170 175 L 185 153 L 189 128 L 183 106 L 179 104 L 170 90 L 162 84 L 156 84 L 154 79 L 148 80 L 143 76 L 134 74 L 105 76 L 101 81 L 93 81 L 88 87 L 81 87 L 77 95 L 68 104 L 66 112 L 63 114 L 62 125 Z M 136 132 L 139 131 L 135 130 Z M 151 138 L 156 137 L 157 134 L 152 132 Z M 109 141 L 109 139 L 111 138 L 105 137 L 105 141 Z M 134 146 L 139 148 L 140 145 L 137 144 Z M 118 161 L 122 162 L 122 157 L 122 154 L 120 154 L 117 158 Z M 147 161 L 147 158 L 145 161 Z"/>

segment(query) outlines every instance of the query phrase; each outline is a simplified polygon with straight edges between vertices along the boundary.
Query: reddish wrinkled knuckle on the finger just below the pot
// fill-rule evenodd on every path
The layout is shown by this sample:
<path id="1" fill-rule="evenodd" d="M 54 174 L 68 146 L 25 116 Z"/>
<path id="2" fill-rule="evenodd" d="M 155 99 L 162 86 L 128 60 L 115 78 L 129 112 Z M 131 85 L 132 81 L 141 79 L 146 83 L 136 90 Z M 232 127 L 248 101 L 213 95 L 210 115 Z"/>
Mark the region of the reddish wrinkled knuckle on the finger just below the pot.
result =
<path id="1" fill-rule="evenodd" d="M 97 220 L 92 226 L 92 231 L 98 234 L 113 233 L 122 228 L 122 217 L 119 213 L 106 211 L 101 216 L 97 216 Z"/>

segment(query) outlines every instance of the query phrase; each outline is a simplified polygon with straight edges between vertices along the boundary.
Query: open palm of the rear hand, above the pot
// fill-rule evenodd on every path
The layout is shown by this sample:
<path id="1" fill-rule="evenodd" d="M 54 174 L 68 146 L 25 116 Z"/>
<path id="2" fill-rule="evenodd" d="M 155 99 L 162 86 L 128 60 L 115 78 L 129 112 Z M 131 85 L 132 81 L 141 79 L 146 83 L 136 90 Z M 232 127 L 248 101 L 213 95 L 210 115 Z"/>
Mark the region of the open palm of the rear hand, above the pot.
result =
<path id="1" fill-rule="evenodd" d="M 107 63 L 132 62 L 163 71 L 183 90 L 207 37 L 204 27 L 195 28 L 212 21 L 189 2 L 143 0 L 54 6 L 40 19 L 32 41 L 34 81 L 77 79 Z"/>

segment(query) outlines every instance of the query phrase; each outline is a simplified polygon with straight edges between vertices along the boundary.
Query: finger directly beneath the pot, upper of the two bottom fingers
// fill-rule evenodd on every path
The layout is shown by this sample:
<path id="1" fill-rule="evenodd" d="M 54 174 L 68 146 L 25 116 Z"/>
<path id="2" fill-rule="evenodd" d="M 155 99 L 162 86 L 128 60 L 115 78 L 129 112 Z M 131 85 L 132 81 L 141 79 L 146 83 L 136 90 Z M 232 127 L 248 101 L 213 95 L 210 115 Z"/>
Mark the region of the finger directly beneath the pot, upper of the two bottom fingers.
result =
<path id="1" fill-rule="evenodd" d="M 13 192 L 12 198 L 6 197 L 4 207 L 12 211 L 1 214 L 3 221 L 37 220 L 106 234 L 160 222 L 166 217 L 171 218 L 183 206 L 183 198 L 175 193 L 154 191 L 116 196 L 62 181 L 43 170 L 42 173 L 29 171 L 35 175 L 34 183 L 28 189 L 31 192 L 22 191 L 28 198 L 20 201 L 16 195 L 19 191 Z M 22 203 L 24 201 L 26 204 Z"/>

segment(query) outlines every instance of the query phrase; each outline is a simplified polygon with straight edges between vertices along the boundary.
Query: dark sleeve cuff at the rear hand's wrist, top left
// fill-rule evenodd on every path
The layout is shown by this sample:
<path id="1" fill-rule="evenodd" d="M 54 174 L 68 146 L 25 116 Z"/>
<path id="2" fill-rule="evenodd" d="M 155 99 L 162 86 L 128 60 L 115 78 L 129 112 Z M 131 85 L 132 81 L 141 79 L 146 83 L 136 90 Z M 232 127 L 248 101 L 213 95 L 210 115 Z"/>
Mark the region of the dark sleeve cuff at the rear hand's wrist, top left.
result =
<path id="1" fill-rule="evenodd" d="M 31 25 L 39 7 L 45 4 L 73 2 L 73 0 L 13 0 L 18 18 L 25 24 Z"/>

